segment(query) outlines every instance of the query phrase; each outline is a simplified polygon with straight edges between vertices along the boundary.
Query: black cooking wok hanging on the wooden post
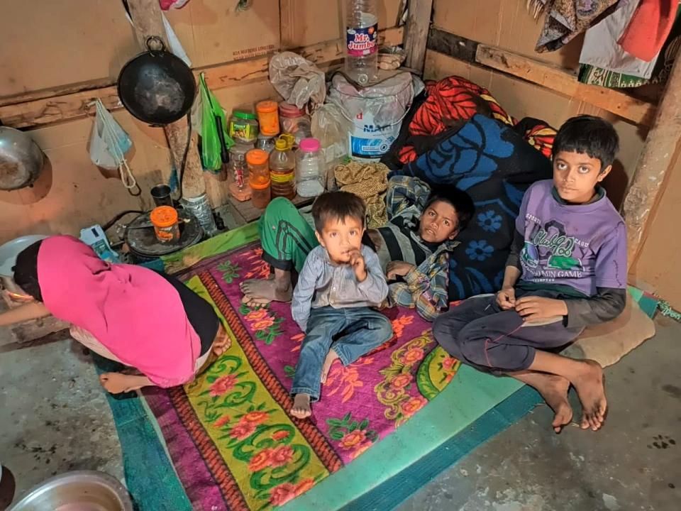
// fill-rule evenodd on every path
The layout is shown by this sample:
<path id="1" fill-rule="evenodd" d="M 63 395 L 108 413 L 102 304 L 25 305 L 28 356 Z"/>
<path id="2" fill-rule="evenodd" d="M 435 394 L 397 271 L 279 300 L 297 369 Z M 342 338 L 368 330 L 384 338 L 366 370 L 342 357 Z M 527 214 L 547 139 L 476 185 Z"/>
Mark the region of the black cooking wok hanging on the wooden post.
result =
<path id="1" fill-rule="evenodd" d="M 152 50 L 153 42 L 160 50 Z M 160 38 L 148 38 L 147 48 L 123 66 L 118 75 L 118 97 L 140 121 L 163 126 L 182 119 L 192 109 L 196 80 L 182 59 L 165 50 Z"/>

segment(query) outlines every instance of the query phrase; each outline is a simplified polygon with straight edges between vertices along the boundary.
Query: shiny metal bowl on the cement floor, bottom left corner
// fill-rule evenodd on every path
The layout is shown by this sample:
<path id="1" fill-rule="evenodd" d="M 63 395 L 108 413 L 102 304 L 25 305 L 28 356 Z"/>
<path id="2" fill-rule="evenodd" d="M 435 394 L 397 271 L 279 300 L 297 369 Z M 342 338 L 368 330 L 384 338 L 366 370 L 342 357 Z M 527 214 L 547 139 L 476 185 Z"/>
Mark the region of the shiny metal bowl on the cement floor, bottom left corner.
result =
<path id="1" fill-rule="evenodd" d="M 9 511 L 133 511 L 128 491 L 109 474 L 67 472 L 33 488 Z"/>

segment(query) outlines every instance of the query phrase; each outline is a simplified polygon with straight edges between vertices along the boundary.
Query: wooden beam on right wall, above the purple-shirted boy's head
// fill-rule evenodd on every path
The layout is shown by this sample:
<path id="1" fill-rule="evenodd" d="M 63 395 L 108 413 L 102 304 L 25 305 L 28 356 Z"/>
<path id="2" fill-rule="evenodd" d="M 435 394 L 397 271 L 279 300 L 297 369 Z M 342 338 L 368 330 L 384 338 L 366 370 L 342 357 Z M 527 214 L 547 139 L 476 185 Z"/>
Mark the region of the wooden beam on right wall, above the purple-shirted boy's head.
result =
<path id="1" fill-rule="evenodd" d="M 655 105 L 613 89 L 583 84 L 577 81 L 575 73 L 547 62 L 477 43 L 437 28 L 431 30 L 428 49 L 541 85 L 553 92 L 598 106 L 636 124 L 650 126 L 653 123 Z"/>

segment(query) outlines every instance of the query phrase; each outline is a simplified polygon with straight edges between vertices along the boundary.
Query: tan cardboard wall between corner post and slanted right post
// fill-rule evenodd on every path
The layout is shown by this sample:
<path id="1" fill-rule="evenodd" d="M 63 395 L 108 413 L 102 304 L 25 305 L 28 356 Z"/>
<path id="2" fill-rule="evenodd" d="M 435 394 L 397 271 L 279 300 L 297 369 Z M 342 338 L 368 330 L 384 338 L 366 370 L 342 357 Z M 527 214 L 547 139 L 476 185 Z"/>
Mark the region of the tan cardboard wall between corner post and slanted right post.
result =
<path id="1" fill-rule="evenodd" d="M 582 37 L 578 36 L 558 52 L 536 53 L 534 48 L 542 23 L 543 16 L 534 20 L 526 11 L 524 1 L 433 2 L 433 24 L 437 28 L 479 43 L 499 46 L 536 60 L 559 65 L 566 70 L 577 69 Z M 547 121 L 555 128 L 578 114 L 602 116 L 611 121 L 619 134 L 621 150 L 605 187 L 615 205 L 621 204 L 629 179 L 636 168 L 636 159 L 643 147 L 647 134 L 645 129 L 583 101 L 501 72 L 483 70 L 430 50 L 426 53 L 425 73 L 429 79 L 441 79 L 450 75 L 470 79 L 487 88 L 499 104 L 517 119 L 535 117 Z"/>

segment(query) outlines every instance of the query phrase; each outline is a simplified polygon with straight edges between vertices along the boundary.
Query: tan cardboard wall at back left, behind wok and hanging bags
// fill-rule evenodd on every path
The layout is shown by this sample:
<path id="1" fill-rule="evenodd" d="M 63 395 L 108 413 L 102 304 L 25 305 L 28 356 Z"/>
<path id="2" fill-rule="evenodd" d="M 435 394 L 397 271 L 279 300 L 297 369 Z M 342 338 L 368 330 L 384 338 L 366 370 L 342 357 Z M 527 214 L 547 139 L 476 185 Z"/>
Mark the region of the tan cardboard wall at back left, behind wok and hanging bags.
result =
<path id="1" fill-rule="evenodd" d="M 166 15 L 193 67 L 203 67 L 265 55 L 283 45 L 340 38 L 344 4 L 257 0 L 240 11 L 236 0 L 190 0 L 184 9 Z M 396 26 L 402 0 L 377 4 L 380 28 Z M 139 53 L 119 0 L 0 0 L 0 12 L 0 99 L 92 80 L 114 83 L 125 62 Z M 267 80 L 215 93 L 228 112 L 277 98 Z M 125 209 L 150 207 L 150 187 L 167 182 L 170 175 L 164 133 L 123 110 L 114 117 L 133 140 L 128 162 L 142 195 L 131 197 L 116 177 L 106 177 L 90 161 L 92 119 L 33 129 L 28 133 L 43 148 L 48 167 L 33 187 L 0 192 L 0 243 L 29 233 L 78 234 Z M 225 184 L 206 175 L 206 186 Z"/>

